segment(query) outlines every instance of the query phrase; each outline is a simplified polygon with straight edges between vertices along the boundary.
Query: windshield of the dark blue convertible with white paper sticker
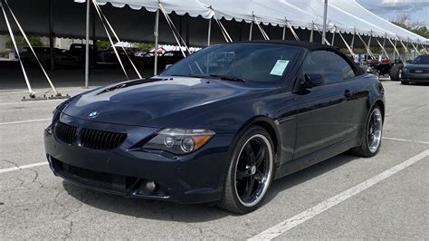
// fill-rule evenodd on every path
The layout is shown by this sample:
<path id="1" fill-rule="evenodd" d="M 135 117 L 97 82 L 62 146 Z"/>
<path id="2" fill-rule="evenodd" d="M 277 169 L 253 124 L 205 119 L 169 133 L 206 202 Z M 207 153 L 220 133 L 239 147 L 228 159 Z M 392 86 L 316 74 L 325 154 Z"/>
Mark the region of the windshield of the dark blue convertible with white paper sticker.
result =
<path id="1" fill-rule="evenodd" d="M 300 48 L 278 44 L 221 44 L 189 55 L 161 75 L 278 82 L 290 71 L 299 53 Z"/>

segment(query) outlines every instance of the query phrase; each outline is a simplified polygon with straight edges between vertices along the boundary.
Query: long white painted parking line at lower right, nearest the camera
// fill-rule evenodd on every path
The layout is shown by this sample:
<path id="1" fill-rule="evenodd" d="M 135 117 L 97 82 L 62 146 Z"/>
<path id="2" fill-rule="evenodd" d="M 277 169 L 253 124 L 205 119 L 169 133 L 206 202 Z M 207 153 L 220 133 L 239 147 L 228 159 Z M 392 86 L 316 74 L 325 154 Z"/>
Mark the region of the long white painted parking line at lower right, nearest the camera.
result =
<path id="1" fill-rule="evenodd" d="M 310 207 L 309 209 L 301 212 L 300 214 L 294 217 L 291 217 L 285 221 L 282 221 L 281 223 L 277 224 L 274 227 L 270 227 L 267 230 L 262 231 L 262 233 L 251 237 L 249 240 L 271 240 L 277 236 L 281 236 L 281 234 L 284 234 L 285 232 L 291 230 L 293 227 L 297 227 L 300 224 L 304 223 L 305 221 L 318 216 L 319 214 L 323 213 L 326 210 L 329 210 L 329 208 L 335 207 L 336 205 L 347 200 L 348 198 L 351 198 L 357 195 L 358 193 L 366 190 L 367 188 L 371 188 L 372 186 L 376 185 L 378 182 L 386 178 L 389 178 L 390 176 L 396 174 L 400 170 L 415 164 L 417 161 L 424 159 L 427 156 L 429 156 L 429 149 L 424 150 L 420 154 L 415 155 L 411 159 L 405 160 L 404 162 L 396 165 L 391 169 L 385 170 L 384 172 L 378 174 L 377 176 L 367 179 L 366 181 L 358 184 L 353 188 L 349 188 L 339 193 L 338 195 L 319 203 L 314 207 Z"/>

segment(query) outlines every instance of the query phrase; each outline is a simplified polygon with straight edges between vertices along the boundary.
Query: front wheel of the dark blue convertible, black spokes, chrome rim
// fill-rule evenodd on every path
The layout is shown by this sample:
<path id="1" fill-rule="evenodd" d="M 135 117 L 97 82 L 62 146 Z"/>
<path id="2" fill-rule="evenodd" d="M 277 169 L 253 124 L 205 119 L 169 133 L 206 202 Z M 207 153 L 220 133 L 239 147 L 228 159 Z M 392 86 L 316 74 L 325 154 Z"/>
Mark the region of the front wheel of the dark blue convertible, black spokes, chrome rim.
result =
<path id="1" fill-rule="evenodd" d="M 266 130 L 258 126 L 245 130 L 234 147 L 218 207 L 237 214 L 260 207 L 274 176 L 274 156 L 272 139 Z M 250 192 L 246 191 L 249 187 Z"/>

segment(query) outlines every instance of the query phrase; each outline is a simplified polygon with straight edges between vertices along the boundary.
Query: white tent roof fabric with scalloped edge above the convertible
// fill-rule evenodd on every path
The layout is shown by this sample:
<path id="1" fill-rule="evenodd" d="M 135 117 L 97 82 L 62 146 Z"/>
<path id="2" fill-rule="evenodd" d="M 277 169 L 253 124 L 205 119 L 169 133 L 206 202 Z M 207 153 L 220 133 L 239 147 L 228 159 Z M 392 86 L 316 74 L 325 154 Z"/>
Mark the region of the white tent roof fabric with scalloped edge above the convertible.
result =
<path id="1" fill-rule="evenodd" d="M 75 0 L 85 2 L 85 0 Z M 98 0 L 100 5 L 110 3 L 117 7 L 129 5 L 133 9 L 146 8 L 157 10 L 157 0 Z M 284 25 L 286 20 L 295 28 L 312 28 L 316 24 L 320 29 L 323 25 L 323 0 L 161 0 L 160 3 L 167 13 L 175 12 L 196 17 L 201 15 L 208 19 L 245 21 L 250 23 L 257 19 L 262 24 Z M 335 29 L 345 33 L 399 38 L 410 42 L 427 42 L 428 40 L 391 24 L 383 18 L 369 12 L 355 0 L 329 0 L 328 9 L 329 31 Z"/>

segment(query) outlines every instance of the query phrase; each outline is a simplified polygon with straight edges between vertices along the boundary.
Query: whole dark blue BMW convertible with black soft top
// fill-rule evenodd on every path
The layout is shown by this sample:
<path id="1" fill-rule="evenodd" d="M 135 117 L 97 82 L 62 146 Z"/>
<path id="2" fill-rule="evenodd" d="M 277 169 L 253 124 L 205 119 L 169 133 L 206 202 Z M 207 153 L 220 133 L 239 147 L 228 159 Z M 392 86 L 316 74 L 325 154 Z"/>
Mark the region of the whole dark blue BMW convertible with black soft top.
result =
<path id="1" fill-rule="evenodd" d="M 76 185 L 248 213 L 276 178 L 347 150 L 376 155 L 384 114 L 377 77 L 335 48 L 227 43 L 63 102 L 44 142 Z"/>

